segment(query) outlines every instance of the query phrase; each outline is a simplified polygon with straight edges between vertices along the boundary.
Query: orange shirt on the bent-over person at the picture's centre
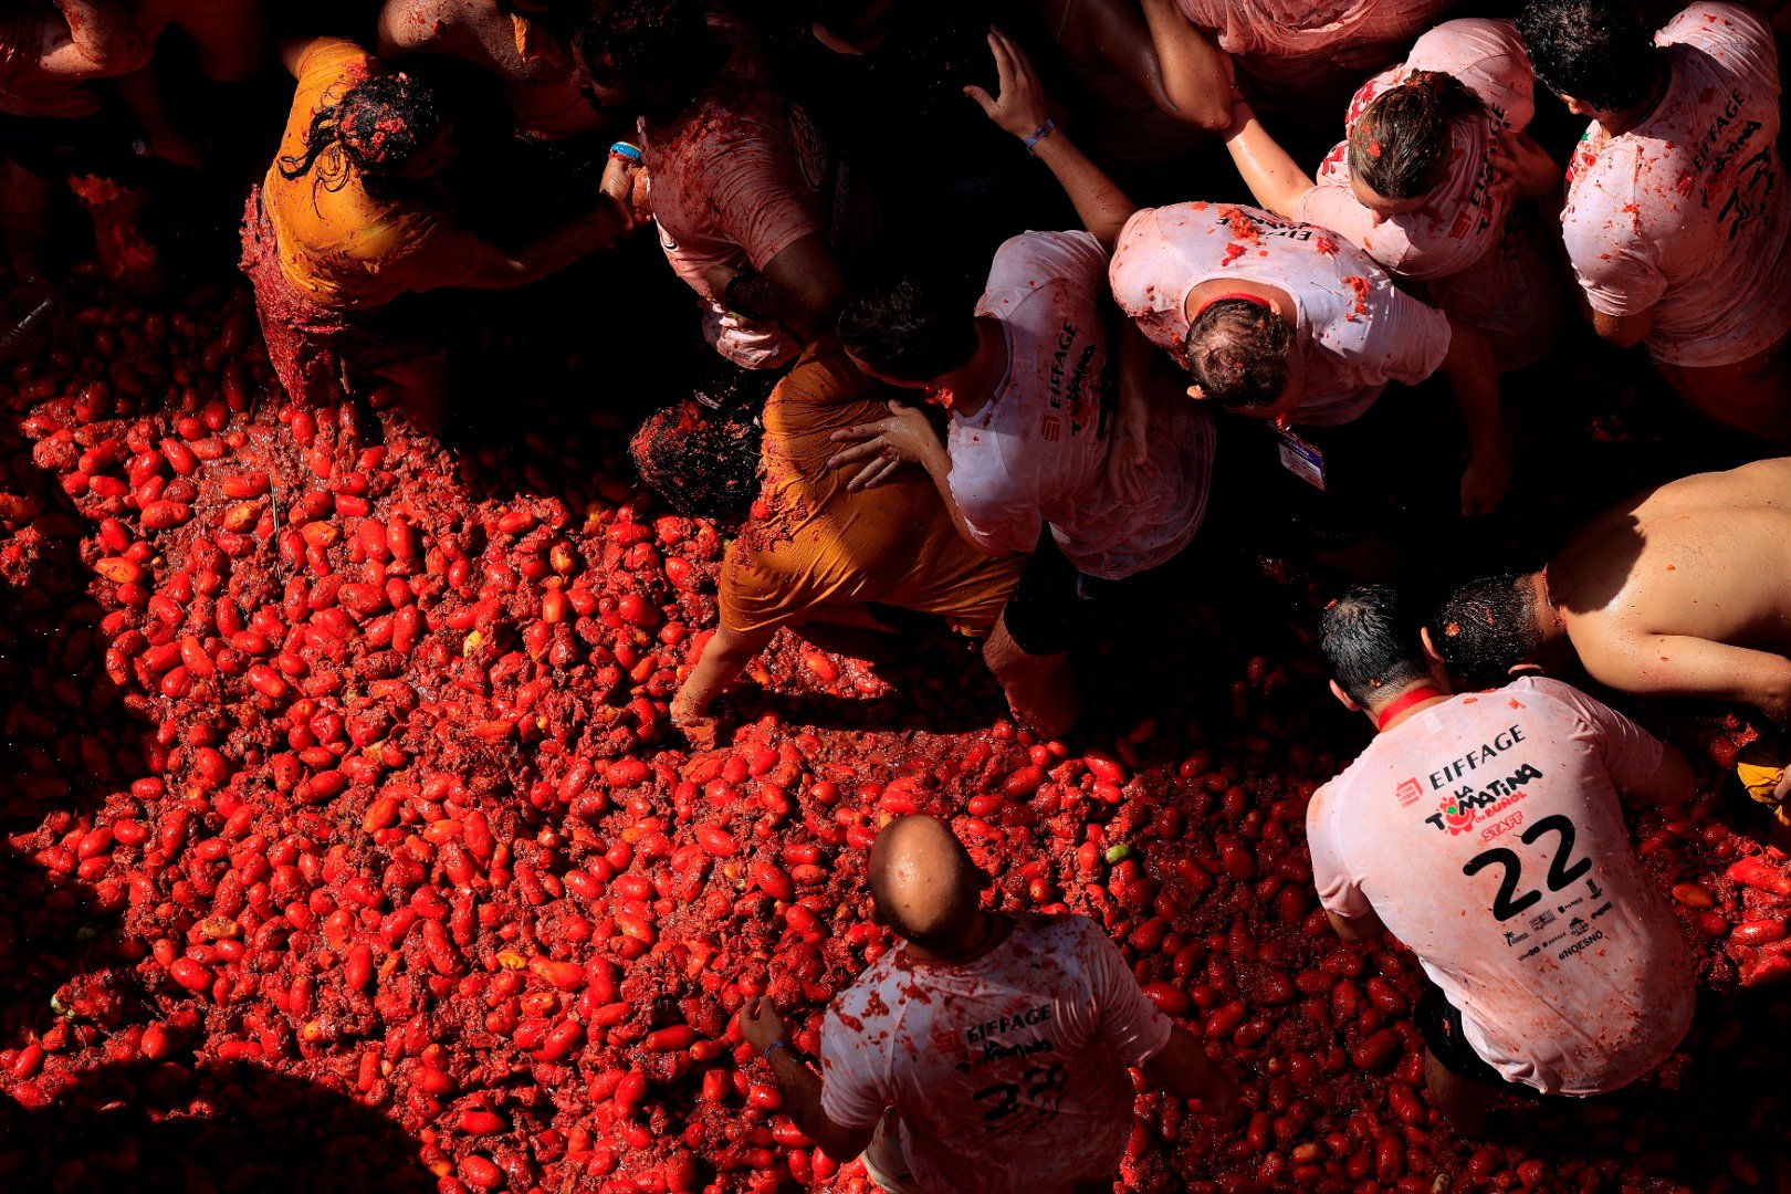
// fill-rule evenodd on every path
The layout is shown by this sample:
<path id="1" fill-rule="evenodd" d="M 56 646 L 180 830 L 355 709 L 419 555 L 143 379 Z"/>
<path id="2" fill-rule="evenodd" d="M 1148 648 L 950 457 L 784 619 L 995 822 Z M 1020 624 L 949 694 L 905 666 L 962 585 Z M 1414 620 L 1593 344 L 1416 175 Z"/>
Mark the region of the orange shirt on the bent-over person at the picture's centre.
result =
<path id="1" fill-rule="evenodd" d="M 727 548 L 722 625 L 749 632 L 876 601 L 940 614 L 967 634 L 994 628 L 1024 555 L 994 559 L 965 542 L 921 471 L 854 494 L 853 469 L 827 467 L 833 431 L 887 415 L 885 392 L 831 342 L 777 383 L 765 403 L 765 516 Z"/>

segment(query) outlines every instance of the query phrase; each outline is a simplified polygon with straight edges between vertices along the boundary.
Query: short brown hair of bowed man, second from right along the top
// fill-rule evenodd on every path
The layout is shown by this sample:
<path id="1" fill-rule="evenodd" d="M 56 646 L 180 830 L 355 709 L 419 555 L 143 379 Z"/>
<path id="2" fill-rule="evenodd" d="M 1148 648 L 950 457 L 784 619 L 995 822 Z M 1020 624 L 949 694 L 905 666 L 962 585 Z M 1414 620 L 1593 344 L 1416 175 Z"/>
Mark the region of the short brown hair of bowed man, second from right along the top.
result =
<path id="1" fill-rule="evenodd" d="M 1454 75 L 1415 70 L 1350 125 L 1349 168 L 1377 195 L 1417 199 L 1449 174 L 1454 120 L 1485 111 Z"/>

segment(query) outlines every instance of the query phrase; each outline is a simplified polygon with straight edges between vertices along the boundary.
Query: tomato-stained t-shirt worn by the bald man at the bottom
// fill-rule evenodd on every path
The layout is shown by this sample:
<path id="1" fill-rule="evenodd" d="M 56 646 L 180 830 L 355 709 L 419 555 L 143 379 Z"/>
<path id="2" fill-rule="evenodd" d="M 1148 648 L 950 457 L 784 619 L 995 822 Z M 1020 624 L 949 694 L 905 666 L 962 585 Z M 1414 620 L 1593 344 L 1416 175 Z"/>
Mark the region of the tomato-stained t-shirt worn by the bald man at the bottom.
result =
<path id="1" fill-rule="evenodd" d="M 892 949 L 820 1029 L 820 1110 L 901 1117 L 915 1183 L 938 1194 L 1066 1194 L 1118 1171 L 1132 1078 L 1170 1044 L 1118 947 L 1087 917 L 1021 917 L 969 965 Z"/>

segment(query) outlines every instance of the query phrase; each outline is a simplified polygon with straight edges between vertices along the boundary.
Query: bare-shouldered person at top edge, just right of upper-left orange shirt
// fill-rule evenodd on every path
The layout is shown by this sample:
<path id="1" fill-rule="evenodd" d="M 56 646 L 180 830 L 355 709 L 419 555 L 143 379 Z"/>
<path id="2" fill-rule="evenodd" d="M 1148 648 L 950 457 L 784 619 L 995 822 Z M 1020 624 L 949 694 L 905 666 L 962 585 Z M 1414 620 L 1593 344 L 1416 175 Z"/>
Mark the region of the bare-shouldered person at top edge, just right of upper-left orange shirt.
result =
<path id="1" fill-rule="evenodd" d="M 552 141 L 611 120 L 578 91 L 555 0 L 385 0 L 380 57 L 458 57 L 494 75 L 516 127 Z"/>

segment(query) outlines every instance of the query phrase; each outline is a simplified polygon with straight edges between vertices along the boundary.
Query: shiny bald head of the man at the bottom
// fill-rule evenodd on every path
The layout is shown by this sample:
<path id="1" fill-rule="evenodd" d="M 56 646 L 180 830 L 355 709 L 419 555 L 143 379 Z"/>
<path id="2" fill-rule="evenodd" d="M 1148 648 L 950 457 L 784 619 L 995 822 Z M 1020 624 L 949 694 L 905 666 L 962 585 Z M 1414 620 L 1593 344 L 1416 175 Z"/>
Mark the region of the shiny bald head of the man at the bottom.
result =
<path id="1" fill-rule="evenodd" d="M 869 863 L 878 924 L 935 958 L 980 940 L 980 891 L 987 877 L 937 816 L 897 816 L 878 834 Z"/>

